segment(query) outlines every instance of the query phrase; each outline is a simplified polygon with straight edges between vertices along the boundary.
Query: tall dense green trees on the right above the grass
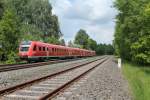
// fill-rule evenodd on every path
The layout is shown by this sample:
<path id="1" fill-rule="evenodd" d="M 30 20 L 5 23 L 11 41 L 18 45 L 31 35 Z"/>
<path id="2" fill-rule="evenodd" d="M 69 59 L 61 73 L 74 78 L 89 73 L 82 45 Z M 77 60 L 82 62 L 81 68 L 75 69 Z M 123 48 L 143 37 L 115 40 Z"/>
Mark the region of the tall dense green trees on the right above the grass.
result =
<path id="1" fill-rule="evenodd" d="M 115 54 L 140 64 L 150 64 L 150 1 L 116 0 L 118 10 Z"/>

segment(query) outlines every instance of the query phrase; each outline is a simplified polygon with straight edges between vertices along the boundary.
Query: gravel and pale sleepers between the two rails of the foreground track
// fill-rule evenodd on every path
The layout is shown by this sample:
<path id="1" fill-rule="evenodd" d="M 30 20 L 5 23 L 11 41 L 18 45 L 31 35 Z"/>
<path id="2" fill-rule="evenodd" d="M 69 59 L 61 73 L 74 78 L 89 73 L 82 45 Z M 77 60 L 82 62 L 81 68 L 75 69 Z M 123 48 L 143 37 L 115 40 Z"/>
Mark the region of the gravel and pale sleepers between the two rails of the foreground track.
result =
<path id="1" fill-rule="evenodd" d="M 48 91 L 52 92 L 56 88 L 62 86 L 64 83 L 69 82 L 70 80 L 79 76 L 86 70 L 89 70 L 93 66 L 99 64 L 99 62 L 100 61 L 95 61 L 86 66 L 79 67 L 79 68 L 69 71 L 67 73 L 63 73 L 56 77 L 53 77 L 53 78 L 50 78 L 47 80 L 43 80 L 43 81 L 41 81 L 37 84 L 34 84 L 30 87 L 26 87 L 24 89 L 13 92 L 12 94 L 5 95 L 4 97 L 2 97 L 0 99 L 2 99 L 2 100 L 12 100 L 12 99 L 13 100 L 37 100 L 38 98 L 47 94 L 46 92 L 48 92 Z M 41 89 L 42 89 L 42 91 L 41 91 Z M 15 95 L 15 97 L 14 97 L 14 95 Z"/>

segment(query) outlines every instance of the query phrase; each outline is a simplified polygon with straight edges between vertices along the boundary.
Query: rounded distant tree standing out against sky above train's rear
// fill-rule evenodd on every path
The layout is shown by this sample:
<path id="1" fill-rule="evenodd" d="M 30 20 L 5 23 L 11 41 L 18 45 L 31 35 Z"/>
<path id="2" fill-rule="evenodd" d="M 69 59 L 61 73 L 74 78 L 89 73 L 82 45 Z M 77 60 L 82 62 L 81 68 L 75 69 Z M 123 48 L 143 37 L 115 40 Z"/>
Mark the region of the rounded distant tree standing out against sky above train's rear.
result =
<path id="1" fill-rule="evenodd" d="M 84 49 L 88 49 L 88 39 L 89 39 L 89 35 L 86 33 L 85 30 L 80 29 L 77 32 L 77 35 L 75 36 L 75 40 L 74 43 L 81 45 Z"/>

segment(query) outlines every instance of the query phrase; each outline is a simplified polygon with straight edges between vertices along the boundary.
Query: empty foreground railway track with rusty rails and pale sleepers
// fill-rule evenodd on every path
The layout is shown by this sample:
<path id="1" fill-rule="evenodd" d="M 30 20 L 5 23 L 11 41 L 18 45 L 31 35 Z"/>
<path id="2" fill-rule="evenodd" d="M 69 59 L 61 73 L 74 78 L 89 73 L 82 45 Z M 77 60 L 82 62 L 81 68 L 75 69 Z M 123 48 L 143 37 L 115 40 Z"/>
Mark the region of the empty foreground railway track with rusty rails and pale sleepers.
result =
<path id="1" fill-rule="evenodd" d="M 106 61 L 101 58 L 39 79 L 0 90 L 2 100 L 46 100 L 56 96 L 73 82 Z"/>

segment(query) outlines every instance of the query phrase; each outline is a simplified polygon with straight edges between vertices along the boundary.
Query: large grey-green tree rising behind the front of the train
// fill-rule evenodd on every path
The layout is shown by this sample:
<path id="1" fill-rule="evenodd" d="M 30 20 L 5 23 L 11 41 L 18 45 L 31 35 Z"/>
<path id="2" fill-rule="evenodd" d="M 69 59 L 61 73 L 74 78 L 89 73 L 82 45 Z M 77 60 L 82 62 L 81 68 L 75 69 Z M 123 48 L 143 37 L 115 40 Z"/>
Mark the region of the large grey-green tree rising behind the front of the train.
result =
<path id="1" fill-rule="evenodd" d="M 62 36 L 58 18 L 52 15 L 52 7 L 48 0 L 7 0 L 7 5 L 14 9 L 20 18 L 22 33 L 27 34 L 25 37 L 49 42 L 47 40 L 50 37 L 59 40 Z M 26 40 L 24 36 L 23 39 Z"/>

